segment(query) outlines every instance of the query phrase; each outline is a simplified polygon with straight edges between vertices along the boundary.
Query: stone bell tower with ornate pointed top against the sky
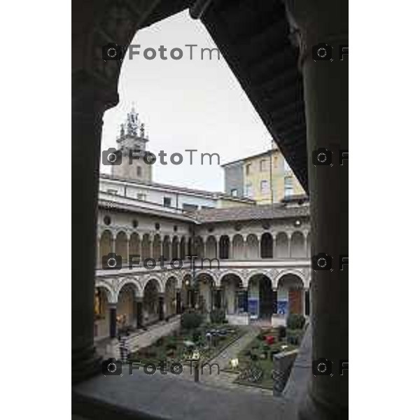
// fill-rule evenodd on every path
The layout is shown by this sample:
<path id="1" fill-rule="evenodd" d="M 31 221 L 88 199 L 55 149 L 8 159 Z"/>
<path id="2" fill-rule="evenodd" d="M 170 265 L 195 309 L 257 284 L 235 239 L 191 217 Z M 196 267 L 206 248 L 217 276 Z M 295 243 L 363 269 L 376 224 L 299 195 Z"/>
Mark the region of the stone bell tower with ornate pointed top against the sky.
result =
<path id="1" fill-rule="evenodd" d="M 121 152 L 121 165 L 113 165 L 113 176 L 134 181 L 152 181 L 152 166 L 145 162 L 148 136 L 144 132 L 144 123 L 140 123 L 139 114 L 134 106 L 127 113 L 125 123 L 120 125 L 117 137 L 118 151 Z"/>

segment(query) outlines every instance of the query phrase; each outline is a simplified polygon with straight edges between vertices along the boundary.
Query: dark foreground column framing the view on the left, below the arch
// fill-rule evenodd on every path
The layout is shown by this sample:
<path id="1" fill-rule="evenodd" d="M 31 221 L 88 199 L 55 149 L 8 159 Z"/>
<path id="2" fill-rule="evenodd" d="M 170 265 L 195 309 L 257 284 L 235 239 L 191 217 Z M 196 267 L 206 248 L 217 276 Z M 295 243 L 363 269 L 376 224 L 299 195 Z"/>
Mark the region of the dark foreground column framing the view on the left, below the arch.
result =
<path id="1" fill-rule="evenodd" d="M 85 74 L 73 76 L 71 109 L 71 377 L 86 379 L 99 372 L 94 350 L 94 270 L 96 257 L 97 194 L 101 158 L 102 116 L 118 102 L 99 97 L 99 89 Z"/>

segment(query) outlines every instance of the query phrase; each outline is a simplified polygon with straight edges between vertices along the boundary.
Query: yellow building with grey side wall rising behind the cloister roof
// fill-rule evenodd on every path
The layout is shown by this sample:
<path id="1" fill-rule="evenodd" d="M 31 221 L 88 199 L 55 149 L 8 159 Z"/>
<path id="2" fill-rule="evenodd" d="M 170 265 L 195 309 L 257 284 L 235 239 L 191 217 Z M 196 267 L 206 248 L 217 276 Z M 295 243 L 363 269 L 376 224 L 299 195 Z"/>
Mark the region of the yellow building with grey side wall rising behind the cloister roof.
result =
<path id="1" fill-rule="evenodd" d="M 257 204 L 281 202 L 283 198 L 304 195 L 304 190 L 279 149 L 248 156 L 222 165 L 225 193 L 247 197 Z"/>

